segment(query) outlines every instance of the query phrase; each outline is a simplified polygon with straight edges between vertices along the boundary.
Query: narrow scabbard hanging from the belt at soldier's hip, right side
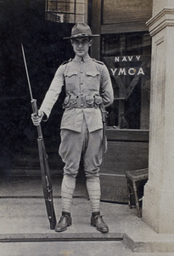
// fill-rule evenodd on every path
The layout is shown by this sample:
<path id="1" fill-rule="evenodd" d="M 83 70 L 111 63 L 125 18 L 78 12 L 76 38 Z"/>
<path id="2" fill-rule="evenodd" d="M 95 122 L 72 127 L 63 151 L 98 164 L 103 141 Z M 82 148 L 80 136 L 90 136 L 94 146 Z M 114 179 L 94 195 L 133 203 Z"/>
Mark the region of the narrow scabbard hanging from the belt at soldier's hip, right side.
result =
<path id="1" fill-rule="evenodd" d="M 106 153 L 106 120 L 108 112 L 105 110 L 104 103 L 101 103 L 100 110 L 102 113 L 102 122 L 103 122 L 103 153 L 102 153 L 102 162 L 104 166 L 104 154 Z"/>

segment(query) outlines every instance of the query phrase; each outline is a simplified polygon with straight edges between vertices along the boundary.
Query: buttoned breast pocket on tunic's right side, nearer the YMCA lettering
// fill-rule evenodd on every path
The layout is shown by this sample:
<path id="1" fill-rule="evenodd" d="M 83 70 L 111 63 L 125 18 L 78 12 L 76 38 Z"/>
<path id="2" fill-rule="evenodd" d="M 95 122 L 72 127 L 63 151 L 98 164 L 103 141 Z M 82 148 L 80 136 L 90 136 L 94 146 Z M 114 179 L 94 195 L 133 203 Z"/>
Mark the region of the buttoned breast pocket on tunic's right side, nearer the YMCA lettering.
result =
<path id="1" fill-rule="evenodd" d="M 87 87 L 90 90 L 98 91 L 100 86 L 100 73 L 98 72 L 98 70 L 87 71 L 86 77 Z"/>

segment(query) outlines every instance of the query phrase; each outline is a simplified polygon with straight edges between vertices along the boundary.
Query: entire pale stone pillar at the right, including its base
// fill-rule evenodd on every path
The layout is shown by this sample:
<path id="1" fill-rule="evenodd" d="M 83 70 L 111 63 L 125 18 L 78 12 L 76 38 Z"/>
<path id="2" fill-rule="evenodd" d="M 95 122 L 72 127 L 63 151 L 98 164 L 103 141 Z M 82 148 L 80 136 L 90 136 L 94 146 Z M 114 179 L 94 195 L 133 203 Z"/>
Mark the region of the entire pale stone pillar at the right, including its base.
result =
<path id="1" fill-rule="evenodd" d="M 152 36 L 149 181 L 143 221 L 174 234 L 174 0 L 154 0 L 147 22 Z"/>

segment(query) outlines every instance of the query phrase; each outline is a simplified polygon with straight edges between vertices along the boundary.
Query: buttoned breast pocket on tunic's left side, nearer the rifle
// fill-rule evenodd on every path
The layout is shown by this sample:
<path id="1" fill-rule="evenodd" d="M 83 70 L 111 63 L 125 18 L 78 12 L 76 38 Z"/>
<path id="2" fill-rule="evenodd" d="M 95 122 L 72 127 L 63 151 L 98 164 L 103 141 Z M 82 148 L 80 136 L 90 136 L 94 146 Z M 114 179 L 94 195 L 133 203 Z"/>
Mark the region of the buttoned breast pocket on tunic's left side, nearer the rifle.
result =
<path id="1" fill-rule="evenodd" d="M 65 73 L 65 87 L 67 91 L 77 89 L 77 71 Z"/>

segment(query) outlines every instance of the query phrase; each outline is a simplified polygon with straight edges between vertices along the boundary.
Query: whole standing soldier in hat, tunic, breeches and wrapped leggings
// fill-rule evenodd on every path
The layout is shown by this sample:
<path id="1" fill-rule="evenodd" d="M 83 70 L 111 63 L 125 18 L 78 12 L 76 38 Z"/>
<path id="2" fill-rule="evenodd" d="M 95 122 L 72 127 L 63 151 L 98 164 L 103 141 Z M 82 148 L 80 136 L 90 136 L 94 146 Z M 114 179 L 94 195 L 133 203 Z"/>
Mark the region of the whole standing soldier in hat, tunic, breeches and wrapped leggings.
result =
<path id="1" fill-rule="evenodd" d="M 70 39 L 75 58 L 65 61 L 55 73 L 53 81 L 38 111 L 31 115 L 34 125 L 47 120 L 65 85 L 65 112 L 61 120 L 59 154 L 65 163 L 61 186 L 62 216 L 55 231 L 67 230 L 72 224 L 70 207 L 76 187 L 81 156 L 87 177 L 87 192 L 92 207 L 91 225 L 100 232 L 109 227 L 100 215 L 99 166 L 102 163 L 103 123 L 100 106 L 113 102 L 113 89 L 107 67 L 88 55 L 93 43 L 91 28 L 79 22 L 73 26 Z"/>

